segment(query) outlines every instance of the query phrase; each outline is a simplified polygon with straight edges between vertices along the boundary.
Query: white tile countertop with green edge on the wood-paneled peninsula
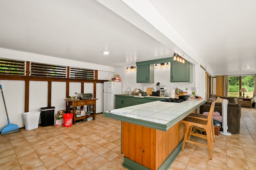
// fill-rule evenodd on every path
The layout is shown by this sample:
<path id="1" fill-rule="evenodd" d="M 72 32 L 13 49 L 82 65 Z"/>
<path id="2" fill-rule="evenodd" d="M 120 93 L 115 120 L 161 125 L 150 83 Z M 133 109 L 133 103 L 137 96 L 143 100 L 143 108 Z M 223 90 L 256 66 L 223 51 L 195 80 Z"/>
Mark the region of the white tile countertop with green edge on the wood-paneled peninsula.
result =
<path id="1" fill-rule="evenodd" d="M 104 111 L 103 114 L 120 121 L 167 131 L 204 102 L 206 99 L 190 99 L 182 103 L 155 101 Z"/>

